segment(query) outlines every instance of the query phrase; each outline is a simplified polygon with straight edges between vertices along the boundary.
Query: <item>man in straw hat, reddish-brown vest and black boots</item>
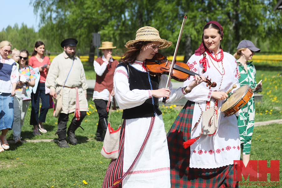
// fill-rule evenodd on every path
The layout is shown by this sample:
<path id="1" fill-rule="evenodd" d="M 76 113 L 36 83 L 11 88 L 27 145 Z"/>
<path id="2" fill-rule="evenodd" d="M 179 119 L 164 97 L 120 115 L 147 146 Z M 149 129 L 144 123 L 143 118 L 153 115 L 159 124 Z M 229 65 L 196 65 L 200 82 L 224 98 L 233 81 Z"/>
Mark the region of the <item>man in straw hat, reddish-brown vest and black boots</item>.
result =
<path id="1" fill-rule="evenodd" d="M 93 100 L 99 114 L 97 126 L 97 141 L 103 141 L 103 132 L 106 134 L 108 112 L 113 94 L 113 76 L 118 61 L 112 58 L 112 42 L 102 42 L 102 52 L 104 55 L 94 60 L 94 69 L 96 72 L 96 84 L 93 92 Z"/>

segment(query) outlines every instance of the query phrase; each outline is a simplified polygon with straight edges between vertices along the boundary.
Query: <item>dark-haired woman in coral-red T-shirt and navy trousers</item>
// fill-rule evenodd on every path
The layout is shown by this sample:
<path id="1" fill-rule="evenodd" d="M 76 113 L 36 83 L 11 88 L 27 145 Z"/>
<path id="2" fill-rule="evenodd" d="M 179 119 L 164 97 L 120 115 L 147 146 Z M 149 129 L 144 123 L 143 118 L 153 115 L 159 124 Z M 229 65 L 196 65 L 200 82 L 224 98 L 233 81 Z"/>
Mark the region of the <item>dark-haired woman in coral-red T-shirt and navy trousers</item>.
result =
<path id="1" fill-rule="evenodd" d="M 38 68 L 40 72 L 40 79 L 36 89 L 36 93 L 31 93 L 31 114 L 30 124 L 34 126 L 33 134 L 40 135 L 41 133 L 47 133 L 44 129 L 43 124 L 46 119 L 46 114 L 50 107 L 50 95 L 49 92 L 45 91 L 45 80 L 50 67 L 50 59 L 44 56 L 45 45 L 41 41 L 35 43 L 34 51 L 29 58 L 29 65 L 32 68 Z M 36 69 L 34 69 L 36 71 Z M 41 109 L 39 115 L 39 98 L 41 98 Z M 39 116 L 39 117 L 38 117 Z"/>

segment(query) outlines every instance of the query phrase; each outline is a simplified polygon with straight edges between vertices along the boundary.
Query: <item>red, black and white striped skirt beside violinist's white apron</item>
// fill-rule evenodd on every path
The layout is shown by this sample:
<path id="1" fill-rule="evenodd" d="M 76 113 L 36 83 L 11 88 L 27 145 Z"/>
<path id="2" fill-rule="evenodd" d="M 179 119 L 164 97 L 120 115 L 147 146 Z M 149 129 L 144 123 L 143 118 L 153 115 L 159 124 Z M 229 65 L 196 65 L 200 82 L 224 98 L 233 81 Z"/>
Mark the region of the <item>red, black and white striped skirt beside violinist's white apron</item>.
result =
<path id="1" fill-rule="evenodd" d="M 124 132 L 125 132 L 125 121 L 123 121 L 121 127 L 118 158 L 111 160 L 110 165 L 106 171 L 106 175 L 104 177 L 102 188 L 111 187 L 112 182 L 122 177 L 123 175 Z M 121 188 L 121 187 L 122 187 L 122 183 L 117 188 Z"/>

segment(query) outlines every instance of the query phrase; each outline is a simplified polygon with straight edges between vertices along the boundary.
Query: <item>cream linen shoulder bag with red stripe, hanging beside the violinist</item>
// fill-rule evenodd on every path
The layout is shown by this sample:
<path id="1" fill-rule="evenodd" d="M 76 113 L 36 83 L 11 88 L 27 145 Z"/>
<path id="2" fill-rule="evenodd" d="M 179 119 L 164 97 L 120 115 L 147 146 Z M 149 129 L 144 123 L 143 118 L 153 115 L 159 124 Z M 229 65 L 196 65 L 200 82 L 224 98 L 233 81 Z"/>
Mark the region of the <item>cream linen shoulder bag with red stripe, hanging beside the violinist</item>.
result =
<path id="1" fill-rule="evenodd" d="M 110 107 L 107 131 L 105 134 L 103 147 L 101 150 L 101 155 L 103 155 L 107 159 L 117 159 L 118 151 L 119 151 L 119 140 L 120 140 L 122 120 L 120 122 L 120 125 L 118 126 L 118 129 L 114 130 L 110 124 L 111 110 L 112 110 L 112 102 Z"/>

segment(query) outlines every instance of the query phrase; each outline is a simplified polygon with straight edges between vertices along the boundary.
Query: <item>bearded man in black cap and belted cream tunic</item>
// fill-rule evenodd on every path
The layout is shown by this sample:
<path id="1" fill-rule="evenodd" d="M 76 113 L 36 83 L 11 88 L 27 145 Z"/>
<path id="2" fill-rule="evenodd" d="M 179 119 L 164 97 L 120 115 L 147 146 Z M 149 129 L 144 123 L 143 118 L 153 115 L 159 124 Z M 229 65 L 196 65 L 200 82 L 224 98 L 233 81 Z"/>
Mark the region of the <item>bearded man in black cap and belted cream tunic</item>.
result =
<path id="1" fill-rule="evenodd" d="M 88 104 L 86 99 L 85 73 L 81 60 L 75 56 L 77 40 L 67 38 L 61 42 L 64 52 L 56 56 L 46 78 L 46 86 L 50 88 L 50 95 L 55 98 L 54 112 L 58 119 L 58 145 L 61 148 L 70 147 L 66 142 L 66 134 L 70 137 L 70 144 L 76 145 L 75 131 L 86 116 Z M 75 113 L 67 130 L 69 114 Z"/>

